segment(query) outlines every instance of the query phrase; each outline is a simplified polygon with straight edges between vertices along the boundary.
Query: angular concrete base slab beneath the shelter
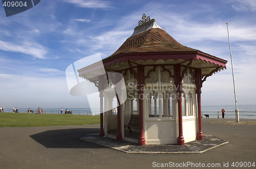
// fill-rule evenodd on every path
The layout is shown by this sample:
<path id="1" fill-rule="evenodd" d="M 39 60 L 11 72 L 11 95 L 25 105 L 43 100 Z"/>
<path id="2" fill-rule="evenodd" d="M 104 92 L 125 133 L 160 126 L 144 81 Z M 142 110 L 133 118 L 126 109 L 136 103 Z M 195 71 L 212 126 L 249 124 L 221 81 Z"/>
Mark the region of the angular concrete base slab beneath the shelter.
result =
<path id="1" fill-rule="evenodd" d="M 214 149 L 221 145 L 227 144 L 228 141 L 214 135 L 204 135 L 204 140 L 195 140 L 186 143 L 185 146 L 177 145 L 145 145 L 138 146 L 136 143 L 126 140 L 117 141 L 111 137 L 99 137 L 98 134 L 86 135 L 80 138 L 87 142 L 95 143 L 101 146 L 109 147 L 125 153 L 203 153 L 207 150 Z"/>

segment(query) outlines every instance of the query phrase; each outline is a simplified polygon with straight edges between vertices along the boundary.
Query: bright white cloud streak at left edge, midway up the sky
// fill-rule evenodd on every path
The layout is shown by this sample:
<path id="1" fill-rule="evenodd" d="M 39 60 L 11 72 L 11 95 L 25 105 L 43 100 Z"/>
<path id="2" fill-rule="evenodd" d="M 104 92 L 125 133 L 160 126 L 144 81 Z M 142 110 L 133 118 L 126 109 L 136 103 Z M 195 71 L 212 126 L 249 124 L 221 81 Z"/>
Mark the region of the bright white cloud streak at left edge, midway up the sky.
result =
<path id="1" fill-rule="evenodd" d="M 33 56 L 34 58 L 46 59 L 47 49 L 37 43 L 21 42 L 20 44 L 4 42 L 0 40 L 0 49 L 11 52 L 20 52 Z"/>

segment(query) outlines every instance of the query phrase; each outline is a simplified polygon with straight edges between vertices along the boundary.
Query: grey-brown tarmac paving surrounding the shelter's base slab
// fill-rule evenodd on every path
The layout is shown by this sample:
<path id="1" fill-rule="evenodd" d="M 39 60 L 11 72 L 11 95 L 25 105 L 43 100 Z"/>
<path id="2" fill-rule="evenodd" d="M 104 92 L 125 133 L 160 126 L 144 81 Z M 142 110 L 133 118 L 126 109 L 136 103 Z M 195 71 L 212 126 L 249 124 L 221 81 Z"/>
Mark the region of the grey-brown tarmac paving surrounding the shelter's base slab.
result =
<path id="1" fill-rule="evenodd" d="M 183 165 L 189 162 L 198 166 L 220 164 L 218 168 L 228 162 L 233 168 L 231 164 L 236 161 L 256 164 L 256 120 L 241 120 L 242 125 L 232 125 L 231 121 L 203 119 L 203 133 L 229 143 L 202 154 L 131 154 L 79 139 L 97 133 L 99 125 L 0 128 L 0 168 L 156 168 L 153 166 L 161 163 L 191 168 Z"/>

